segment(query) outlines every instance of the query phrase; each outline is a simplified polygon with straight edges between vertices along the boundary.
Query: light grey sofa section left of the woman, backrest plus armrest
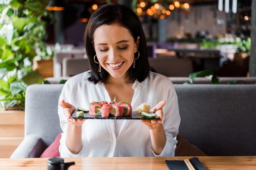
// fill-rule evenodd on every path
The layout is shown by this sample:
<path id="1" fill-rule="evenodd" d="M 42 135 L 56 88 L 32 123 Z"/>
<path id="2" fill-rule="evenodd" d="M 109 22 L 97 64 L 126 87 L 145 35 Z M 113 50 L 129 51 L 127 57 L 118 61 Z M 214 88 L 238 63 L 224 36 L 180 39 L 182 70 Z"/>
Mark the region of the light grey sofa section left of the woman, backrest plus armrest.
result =
<path id="1" fill-rule="evenodd" d="M 25 135 L 11 158 L 40 157 L 62 132 L 57 110 L 63 85 L 28 86 L 25 101 Z"/>

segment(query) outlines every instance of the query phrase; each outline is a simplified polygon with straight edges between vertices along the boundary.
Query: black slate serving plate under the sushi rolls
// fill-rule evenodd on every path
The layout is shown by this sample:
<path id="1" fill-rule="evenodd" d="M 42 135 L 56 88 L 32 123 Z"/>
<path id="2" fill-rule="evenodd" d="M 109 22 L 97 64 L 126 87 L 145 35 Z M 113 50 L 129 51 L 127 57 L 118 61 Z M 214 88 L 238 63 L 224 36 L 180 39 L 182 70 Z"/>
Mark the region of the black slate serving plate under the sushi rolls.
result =
<path id="1" fill-rule="evenodd" d="M 138 111 L 133 111 L 131 116 L 122 116 L 122 117 L 115 117 L 115 116 L 108 116 L 108 117 L 102 117 L 102 116 L 94 116 L 90 115 L 89 113 L 84 113 L 84 117 L 77 117 L 76 116 L 77 111 L 73 111 L 71 115 L 71 119 L 133 119 L 133 120 L 159 120 L 160 118 L 147 118 L 143 115 L 141 115 Z M 152 113 L 151 111 L 149 113 Z"/>

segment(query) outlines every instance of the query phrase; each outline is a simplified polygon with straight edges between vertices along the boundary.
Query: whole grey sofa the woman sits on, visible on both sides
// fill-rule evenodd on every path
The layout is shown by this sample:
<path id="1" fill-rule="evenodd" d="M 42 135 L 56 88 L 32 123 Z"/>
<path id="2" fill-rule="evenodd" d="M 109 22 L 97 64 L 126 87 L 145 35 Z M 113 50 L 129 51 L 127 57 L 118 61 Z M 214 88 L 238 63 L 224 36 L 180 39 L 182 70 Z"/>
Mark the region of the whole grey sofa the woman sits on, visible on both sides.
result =
<path id="1" fill-rule="evenodd" d="M 11 158 L 40 157 L 62 130 L 57 105 L 63 85 L 30 85 L 25 137 Z M 209 156 L 256 155 L 256 85 L 174 85 L 179 134 Z"/>

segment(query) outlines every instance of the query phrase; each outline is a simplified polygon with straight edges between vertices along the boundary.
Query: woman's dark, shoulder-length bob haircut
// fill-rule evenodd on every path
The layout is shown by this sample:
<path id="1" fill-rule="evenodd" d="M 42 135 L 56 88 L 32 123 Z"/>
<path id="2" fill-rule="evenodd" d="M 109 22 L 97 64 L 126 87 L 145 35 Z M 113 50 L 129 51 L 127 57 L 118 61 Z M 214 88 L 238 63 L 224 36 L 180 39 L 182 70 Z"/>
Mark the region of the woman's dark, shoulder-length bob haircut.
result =
<path id="1" fill-rule="evenodd" d="M 121 4 L 106 4 L 100 6 L 91 15 L 89 22 L 86 26 L 84 33 L 85 49 L 89 59 L 90 77 L 88 80 L 97 84 L 98 82 L 106 83 L 109 73 L 105 69 L 101 69 L 99 72 L 99 64 L 94 62 L 94 56 L 96 52 L 94 50 L 94 31 L 101 25 L 111 25 L 118 23 L 121 27 L 129 30 L 134 42 L 137 41 L 140 36 L 138 51 L 140 56 L 136 59 L 135 68 L 133 64 L 126 72 L 126 78 L 128 83 L 132 83 L 135 80 L 139 82 L 144 81 L 149 76 L 150 66 L 147 57 L 147 45 L 145 34 L 141 26 L 141 22 L 138 16 L 133 12 L 131 8 Z M 134 53 L 134 58 L 138 57 L 138 53 Z"/>

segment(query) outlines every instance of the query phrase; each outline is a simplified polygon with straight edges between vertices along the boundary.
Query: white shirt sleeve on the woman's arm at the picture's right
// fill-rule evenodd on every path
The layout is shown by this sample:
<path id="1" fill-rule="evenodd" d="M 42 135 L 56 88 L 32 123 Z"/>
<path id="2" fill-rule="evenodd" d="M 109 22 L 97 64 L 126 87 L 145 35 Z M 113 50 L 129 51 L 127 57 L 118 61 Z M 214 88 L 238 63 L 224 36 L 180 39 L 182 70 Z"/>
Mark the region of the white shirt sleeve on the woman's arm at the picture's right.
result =
<path id="1" fill-rule="evenodd" d="M 166 104 L 163 107 L 164 117 L 162 121 L 167 140 L 165 143 L 165 147 L 160 155 L 156 155 L 151 148 L 151 151 L 155 157 L 174 156 L 174 145 L 177 144 L 177 140 L 174 138 L 178 134 L 180 124 L 178 98 L 173 84 L 171 83 L 168 85 L 168 100 L 166 101 Z"/>

